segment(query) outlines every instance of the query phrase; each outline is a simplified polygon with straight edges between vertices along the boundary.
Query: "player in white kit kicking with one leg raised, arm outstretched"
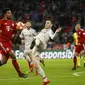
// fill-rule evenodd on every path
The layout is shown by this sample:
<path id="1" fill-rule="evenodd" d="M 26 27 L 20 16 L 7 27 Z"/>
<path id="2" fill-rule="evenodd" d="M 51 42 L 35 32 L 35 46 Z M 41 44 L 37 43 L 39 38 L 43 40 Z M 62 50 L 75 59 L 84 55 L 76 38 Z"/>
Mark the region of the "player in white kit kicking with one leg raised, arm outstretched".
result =
<path id="1" fill-rule="evenodd" d="M 32 62 L 34 64 L 34 67 L 37 69 L 38 74 L 43 79 L 43 85 L 47 85 L 50 83 L 50 80 L 46 77 L 45 72 L 40 66 L 39 62 L 39 55 L 40 53 L 46 49 L 48 40 L 54 39 L 56 36 L 58 36 L 58 32 L 61 31 L 61 28 L 58 28 L 56 32 L 54 33 L 51 29 L 52 22 L 50 20 L 47 20 L 45 23 L 45 28 L 41 30 L 41 32 L 35 37 L 35 45 L 32 48 Z"/>

